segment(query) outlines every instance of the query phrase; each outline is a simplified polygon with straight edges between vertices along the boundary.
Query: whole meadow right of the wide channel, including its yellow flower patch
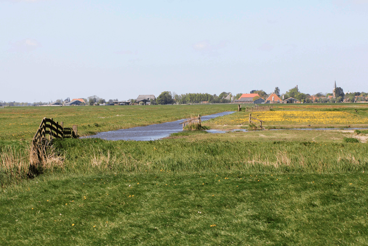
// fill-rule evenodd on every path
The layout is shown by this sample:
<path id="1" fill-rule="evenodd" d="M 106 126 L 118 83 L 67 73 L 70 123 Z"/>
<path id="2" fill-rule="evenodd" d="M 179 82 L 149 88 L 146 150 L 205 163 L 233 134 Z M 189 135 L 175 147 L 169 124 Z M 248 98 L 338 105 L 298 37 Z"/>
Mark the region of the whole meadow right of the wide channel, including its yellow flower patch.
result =
<path id="1" fill-rule="evenodd" d="M 355 112 L 357 110 L 357 112 Z M 247 127 L 249 114 L 270 128 L 367 128 L 368 104 L 274 106 L 274 111 L 240 111 L 205 122 L 218 129 Z M 310 126 L 308 126 L 310 125 Z"/>

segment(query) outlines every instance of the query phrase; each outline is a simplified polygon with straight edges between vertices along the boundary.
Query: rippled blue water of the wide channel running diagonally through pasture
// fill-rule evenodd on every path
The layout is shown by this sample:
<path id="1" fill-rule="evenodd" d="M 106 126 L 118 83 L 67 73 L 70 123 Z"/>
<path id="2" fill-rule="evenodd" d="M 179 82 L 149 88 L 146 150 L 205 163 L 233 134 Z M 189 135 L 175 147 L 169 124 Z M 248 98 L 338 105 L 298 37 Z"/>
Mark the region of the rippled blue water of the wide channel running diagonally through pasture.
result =
<path id="1" fill-rule="evenodd" d="M 201 120 L 209 120 L 215 117 L 232 114 L 234 111 L 226 111 L 217 114 L 211 114 L 201 116 Z M 165 138 L 174 132 L 183 131 L 183 125 L 180 122 L 184 120 L 178 120 L 173 122 L 165 122 L 162 124 L 148 125 L 148 126 L 137 126 L 128 129 L 120 129 L 109 132 L 99 132 L 96 135 L 86 136 L 81 138 L 101 138 L 106 140 L 137 140 L 137 141 L 148 141 L 160 138 Z"/>

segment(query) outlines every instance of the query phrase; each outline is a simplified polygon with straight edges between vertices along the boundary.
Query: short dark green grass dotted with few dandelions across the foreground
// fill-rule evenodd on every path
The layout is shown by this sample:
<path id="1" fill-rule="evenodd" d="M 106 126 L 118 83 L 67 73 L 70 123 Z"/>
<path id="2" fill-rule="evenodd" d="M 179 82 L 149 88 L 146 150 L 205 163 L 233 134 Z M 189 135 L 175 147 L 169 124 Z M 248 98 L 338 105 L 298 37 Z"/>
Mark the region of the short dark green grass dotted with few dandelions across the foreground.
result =
<path id="1" fill-rule="evenodd" d="M 167 171 L 1 189 L 1 244 L 368 244 L 367 174 Z"/>

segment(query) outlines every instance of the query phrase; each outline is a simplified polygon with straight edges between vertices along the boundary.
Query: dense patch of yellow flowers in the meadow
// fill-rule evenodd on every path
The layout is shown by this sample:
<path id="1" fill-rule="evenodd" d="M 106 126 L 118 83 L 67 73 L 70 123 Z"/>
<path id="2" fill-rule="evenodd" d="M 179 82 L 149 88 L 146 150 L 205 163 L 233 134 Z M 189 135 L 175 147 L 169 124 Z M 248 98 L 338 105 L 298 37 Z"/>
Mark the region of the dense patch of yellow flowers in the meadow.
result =
<path id="1" fill-rule="evenodd" d="M 368 118 L 336 111 L 258 111 L 252 116 L 265 121 L 265 125 L 350 125 L 368 124 Z M 249 114 L 240 112 L 214 120 L 214 124 L 248 124 Z"/>

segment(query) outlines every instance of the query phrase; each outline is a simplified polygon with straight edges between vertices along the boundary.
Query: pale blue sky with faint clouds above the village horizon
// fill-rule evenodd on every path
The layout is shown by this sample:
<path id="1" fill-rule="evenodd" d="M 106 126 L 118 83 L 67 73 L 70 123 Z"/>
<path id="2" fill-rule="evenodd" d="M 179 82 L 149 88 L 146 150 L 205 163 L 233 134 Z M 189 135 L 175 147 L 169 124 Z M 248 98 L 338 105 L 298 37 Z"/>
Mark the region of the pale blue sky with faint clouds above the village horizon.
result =
<path id="1" fill-rule="evenodd" d="M 0 0 L 0 100 L 368 92 L 368 0 Z"/>

